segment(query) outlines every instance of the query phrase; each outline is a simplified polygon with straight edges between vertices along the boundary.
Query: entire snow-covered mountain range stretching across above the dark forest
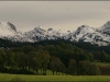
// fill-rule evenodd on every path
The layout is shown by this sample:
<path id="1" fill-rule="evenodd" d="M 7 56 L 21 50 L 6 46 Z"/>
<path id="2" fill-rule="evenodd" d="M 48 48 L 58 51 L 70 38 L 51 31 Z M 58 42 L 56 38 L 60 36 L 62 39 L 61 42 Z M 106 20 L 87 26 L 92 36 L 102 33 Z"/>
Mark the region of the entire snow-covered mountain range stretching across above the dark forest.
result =
<path id="1" fill-rule="evenodd" d="M 43 30 L 40 26 L 36 26 L 32 31 L 22 33 L 18 32 L 12 23 L 0 22 L 0 38 L 20 43 L 64 39 L 76 43 L 84 42 L 97 44 L 99 46 L 108 46 L 110 45 L 110 21 L 108 21 L 101 27 L 81 25 L 75 32 L 67 31 L 66 33 L 64 33 L 62 30 Z"/>

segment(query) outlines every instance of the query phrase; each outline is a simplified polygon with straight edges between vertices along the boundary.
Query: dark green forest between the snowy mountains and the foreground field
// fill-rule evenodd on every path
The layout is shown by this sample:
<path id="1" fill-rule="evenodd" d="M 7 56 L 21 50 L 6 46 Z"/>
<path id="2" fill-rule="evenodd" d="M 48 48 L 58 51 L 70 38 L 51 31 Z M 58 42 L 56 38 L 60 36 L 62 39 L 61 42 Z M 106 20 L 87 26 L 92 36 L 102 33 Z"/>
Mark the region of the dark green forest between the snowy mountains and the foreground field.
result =
<path id="1" fill-rule="evenodd" d="M 0 72 L 46 75 L 46 71 L 51 70 L 53 75 L 58 75 L 59 72 L 97 75 L 102 71 L 92 62 L 110 62 L 109 47 L 62 39 L 40 43 L 0 39 Z"/>

